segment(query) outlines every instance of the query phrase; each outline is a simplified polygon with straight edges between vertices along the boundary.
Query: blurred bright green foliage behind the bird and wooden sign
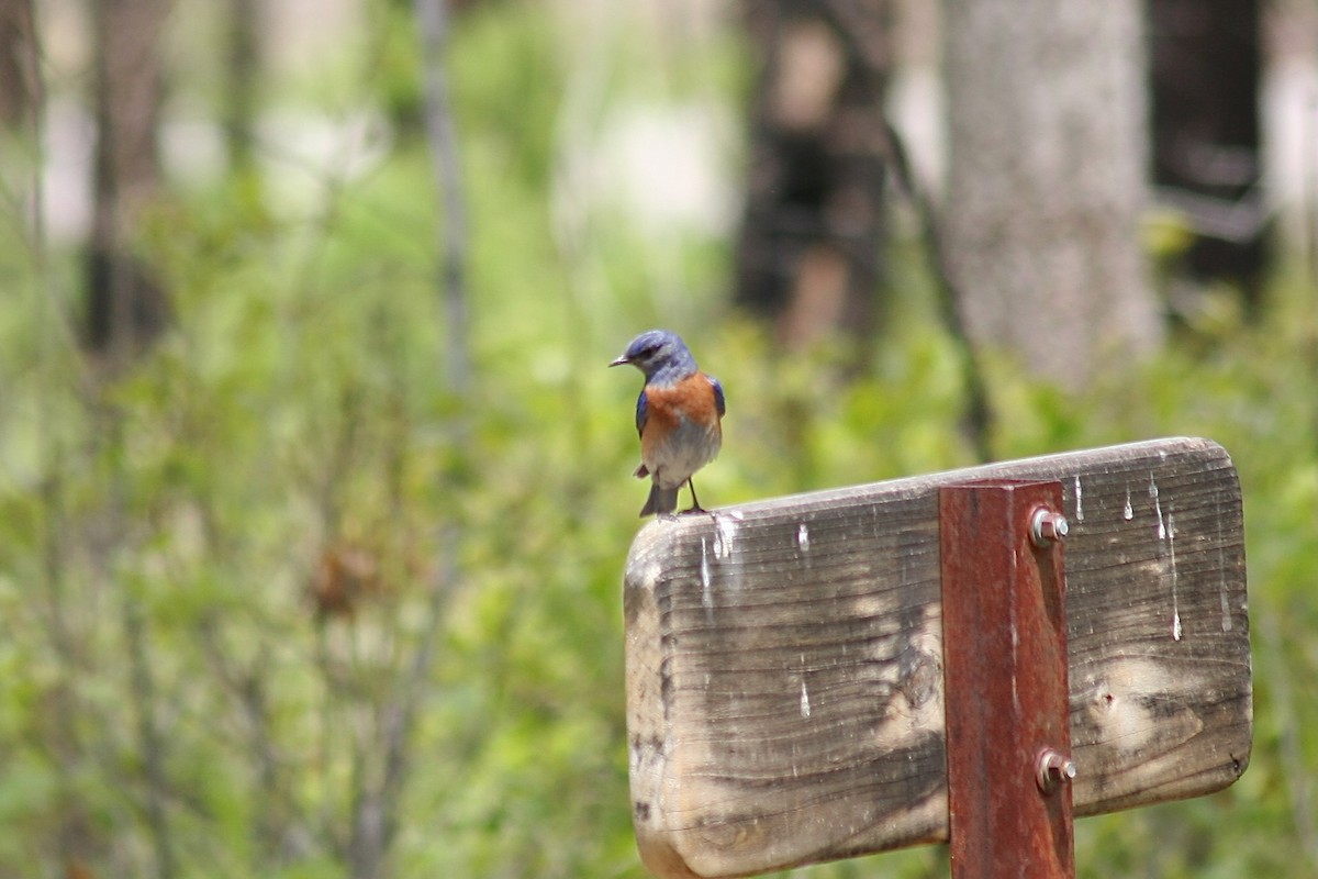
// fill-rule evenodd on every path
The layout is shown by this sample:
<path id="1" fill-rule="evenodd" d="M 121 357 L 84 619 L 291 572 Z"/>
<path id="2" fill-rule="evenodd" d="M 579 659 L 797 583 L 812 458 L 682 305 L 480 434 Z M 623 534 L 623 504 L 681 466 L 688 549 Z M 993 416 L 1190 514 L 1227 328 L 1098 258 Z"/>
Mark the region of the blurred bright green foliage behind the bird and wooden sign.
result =
<path id="1" fill-rule="evenodd" d="M 374 14 L 344 63 L 378 61 L 374 87 L 402 124 L 414 34 L 397 4 Z M 701 476 L 710 503 L 971 463 L 956 351 L 928 304 L 902 303 L 900 332 L 859 370 L 832 347 L 784 356 L 712 293 L 725 242 L 656 253 L 613 215 L 584 239 L 564 228 L 571 40 L 548 16 L 480 4 L 453 34 L 469 395 L 445 374 L 444 217 L 415 137 L 365 171 L 322 169 L 306 200 L 233 178 L 150 217 L 138 244 L 178 323 L 116 377 L 70 344 L 72 254 L 38 261 L 4 239 L 0 875 L 148 874 L 153 801 L 179 875 L 347 875 L 356 800 L 386 774 L 387 714 L 435 627 L 438 584 L 394 874 L 643 876 L 619 594 L 645 496 L 629 476 L 638 378 L 605 365 L 647 326 L 683 331 L 728 387 L 724 456 Z M 638 30 L 619 33 L 647 57 Z M 720 49 L 701 63 L 735 90 L 735 51 Z M 633 55 L 614 50 L 625 67 Z M 623 78 L 608 99 L 680 95 L 691 76 L 668 91 Z M 330 82 L 348 80 L 360 88 L 344 70 Z M 655 295 L 670 258 L 696 293 Z M 1215 797 L 1079 822 L 1081 875 L 1314 868 L 1318 829 L 1296 807 L 1318 764 L 1318 366 L 1311 299 L 1288 279 L 1276 290 L 1261 326 L 1180 340 L 1082 397 L 994 366 L 1002 457 L 1197 434 L 1234 453 L 1244 484 L 1252 766 Z M 946 875 L 945 855 L 791 875 L 875 874 Z"/>

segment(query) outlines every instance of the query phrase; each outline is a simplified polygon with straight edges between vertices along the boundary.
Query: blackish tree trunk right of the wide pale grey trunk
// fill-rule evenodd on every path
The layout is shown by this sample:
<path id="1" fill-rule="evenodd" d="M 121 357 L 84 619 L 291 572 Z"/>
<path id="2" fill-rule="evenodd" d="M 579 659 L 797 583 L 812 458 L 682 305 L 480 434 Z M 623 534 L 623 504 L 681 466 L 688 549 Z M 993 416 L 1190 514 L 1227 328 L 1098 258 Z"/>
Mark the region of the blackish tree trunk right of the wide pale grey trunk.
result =
<path id="1" fill-rule="evenodd" d="M 1252 307 L 1265 262 L 1259 187 L 1257 0 L 1149 0 L 1153 181 L 1194 240 L 1178 268 L 1238 283 Z"/>

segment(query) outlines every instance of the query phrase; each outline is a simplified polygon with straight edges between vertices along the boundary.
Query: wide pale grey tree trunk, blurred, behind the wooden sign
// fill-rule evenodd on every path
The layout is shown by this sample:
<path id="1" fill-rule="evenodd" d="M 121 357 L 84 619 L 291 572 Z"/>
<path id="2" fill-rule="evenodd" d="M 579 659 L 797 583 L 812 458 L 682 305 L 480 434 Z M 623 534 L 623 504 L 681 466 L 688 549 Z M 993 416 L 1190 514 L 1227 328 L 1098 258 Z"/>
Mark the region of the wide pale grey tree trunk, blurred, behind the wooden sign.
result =
<path id="1" fill-rule="evenodd" d="M 946 3 L 945 245 L 970 336 L 1078 389 L 1152 351 L 1141 4 Z"/>

